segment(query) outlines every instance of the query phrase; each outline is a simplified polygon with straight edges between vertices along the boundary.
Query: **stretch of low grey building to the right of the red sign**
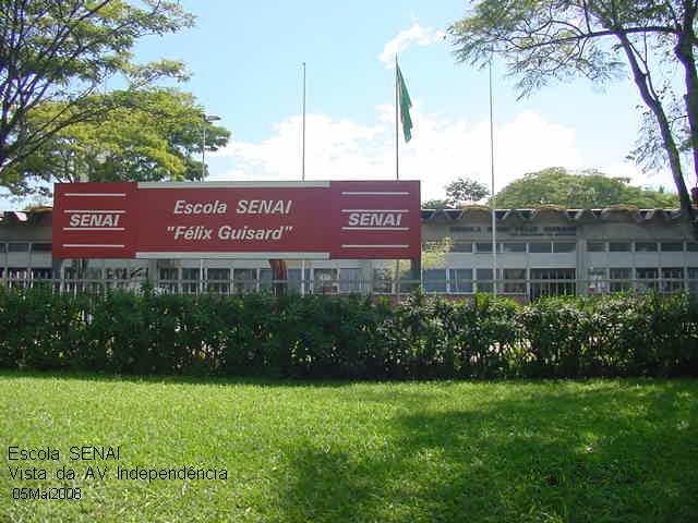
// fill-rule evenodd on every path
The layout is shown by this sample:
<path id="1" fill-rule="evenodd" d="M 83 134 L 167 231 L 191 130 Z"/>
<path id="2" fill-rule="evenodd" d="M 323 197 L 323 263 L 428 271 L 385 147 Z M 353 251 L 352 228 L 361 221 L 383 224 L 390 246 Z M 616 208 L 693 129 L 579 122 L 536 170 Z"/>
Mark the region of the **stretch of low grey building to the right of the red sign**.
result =
<path id="1" fill-rule="evenodd" d="M 542 294 L 669 293 L 693 290 L 698 243 L 677 211 L 609 208 L 497 210 L 496 256 L 488 208 L 422 211 L 422 240 L 453 241 L 445 267 L 424 270 L 428 291 L 492 291 L 527 297 Z M 493 257 L 496 259 L 493 264 Z"/>

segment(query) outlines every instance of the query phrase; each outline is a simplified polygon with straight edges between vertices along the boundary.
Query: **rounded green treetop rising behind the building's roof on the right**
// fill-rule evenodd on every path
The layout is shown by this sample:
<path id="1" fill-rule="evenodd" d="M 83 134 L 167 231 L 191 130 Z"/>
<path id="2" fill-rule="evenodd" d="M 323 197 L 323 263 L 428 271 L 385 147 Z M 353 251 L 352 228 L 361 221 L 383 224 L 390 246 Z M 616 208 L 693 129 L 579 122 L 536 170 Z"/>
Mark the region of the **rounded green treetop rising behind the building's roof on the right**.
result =
<path id="1" fill-rule="evenodd" d="M 636 187 L 627 179 L 610 178 L 598 171 L 569 172 L 555 167 L 529 172 L 506 185 L 496 195 L 498 207 L 531 208 L 562 205 L 569 209 L 593 209 L 611 205 L 640 208 L 676 208 L 675 194 Z"/>

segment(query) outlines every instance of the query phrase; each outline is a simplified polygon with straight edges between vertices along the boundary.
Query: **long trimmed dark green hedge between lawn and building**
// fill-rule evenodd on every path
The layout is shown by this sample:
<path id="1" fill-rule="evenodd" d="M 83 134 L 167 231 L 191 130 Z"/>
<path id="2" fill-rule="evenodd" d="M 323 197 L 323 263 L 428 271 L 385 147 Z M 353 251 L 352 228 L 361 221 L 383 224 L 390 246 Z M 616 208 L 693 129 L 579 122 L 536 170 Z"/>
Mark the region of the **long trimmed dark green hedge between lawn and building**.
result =
<path id="1" fill-rule="evenodd" d="M 309 378 L 698 376 L 688 295 L 371 297 L 0 289 L 0 367 Z"/>

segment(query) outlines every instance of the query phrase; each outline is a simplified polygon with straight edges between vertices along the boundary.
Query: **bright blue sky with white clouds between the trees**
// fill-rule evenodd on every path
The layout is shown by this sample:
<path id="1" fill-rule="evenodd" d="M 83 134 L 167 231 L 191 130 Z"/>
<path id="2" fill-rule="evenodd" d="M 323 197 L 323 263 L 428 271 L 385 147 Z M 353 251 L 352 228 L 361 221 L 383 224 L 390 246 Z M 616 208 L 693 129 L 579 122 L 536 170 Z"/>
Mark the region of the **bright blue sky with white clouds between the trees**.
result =
<path id="1" fill-rule="evenodd" d="M 423 198 L 458 177 L 490 180 L 488 74 L 455 62 L 443 34 L 468 7 L 384 0 L 257 2 L 184 0 L 196 26 L 139 44 L 136 56 L 183 60 L 181 85 L 232 132 L 207 155 L 213 180 L 291 180 L 301 171 L 302 69 L 308 73 L 306 179 L 395 177 L 393 54 L 414 102 L 412 141 L 400 144 L 400 178 Z M 625 161 L 640 102 L 629 80 L 604 88 L 578 80 L 516 100 L 494 66 L 496 187 L 552 166 L 597 168 L 673 188 L 666 172 Z M 17 204 L 0 200 L 3 208 Z"/>

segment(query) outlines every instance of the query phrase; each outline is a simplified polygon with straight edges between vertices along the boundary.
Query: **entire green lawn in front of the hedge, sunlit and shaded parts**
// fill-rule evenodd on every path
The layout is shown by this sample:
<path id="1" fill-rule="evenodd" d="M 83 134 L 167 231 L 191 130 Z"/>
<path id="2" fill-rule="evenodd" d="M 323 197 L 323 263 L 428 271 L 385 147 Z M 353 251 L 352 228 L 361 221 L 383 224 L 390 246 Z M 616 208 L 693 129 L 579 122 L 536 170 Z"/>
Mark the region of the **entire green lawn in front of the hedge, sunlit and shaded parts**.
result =
<path id="1" fill-rule="evenodd" d="M 0 474 L 0 520 L 698 521 L 698 381 L 286 382 L 0 374 L 0 445 L 61 452 Z M 72 446 L 120 446 L 71 461 Z M 116 466 L 226 481 L 117 479 Z M 77 486 L 80 501 L 13 500 Z"/>

